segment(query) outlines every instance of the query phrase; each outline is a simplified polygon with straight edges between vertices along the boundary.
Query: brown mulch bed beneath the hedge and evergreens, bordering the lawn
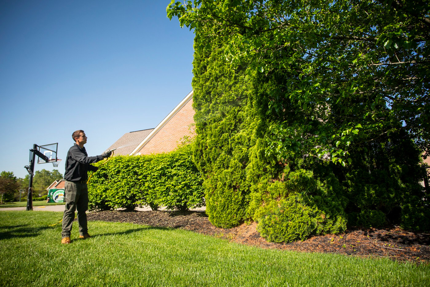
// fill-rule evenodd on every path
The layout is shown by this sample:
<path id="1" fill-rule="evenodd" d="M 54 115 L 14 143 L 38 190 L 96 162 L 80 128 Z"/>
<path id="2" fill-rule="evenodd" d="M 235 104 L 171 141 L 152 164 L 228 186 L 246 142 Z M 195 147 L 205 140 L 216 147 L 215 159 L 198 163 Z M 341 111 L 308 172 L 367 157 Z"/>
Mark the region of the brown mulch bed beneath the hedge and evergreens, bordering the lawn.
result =
<path id="1" fill-rule="evenodd" d="M 387 228 L 350 228 L 343 234 L 313 236 L 290 243 L 267 242 L 256 231 L 256 223 L 235 228 L 213 226 L 205 212 L 198 211 L 100 211 L 88 220 L 130 222 L 161 228 L 181 228 L 231 242 L 268 249 L 300 252 L 338 253 L 358 257 L 386 257 L 396 261 L 428 264 L 430 234 L 414 233 L 396 226 Z"/>

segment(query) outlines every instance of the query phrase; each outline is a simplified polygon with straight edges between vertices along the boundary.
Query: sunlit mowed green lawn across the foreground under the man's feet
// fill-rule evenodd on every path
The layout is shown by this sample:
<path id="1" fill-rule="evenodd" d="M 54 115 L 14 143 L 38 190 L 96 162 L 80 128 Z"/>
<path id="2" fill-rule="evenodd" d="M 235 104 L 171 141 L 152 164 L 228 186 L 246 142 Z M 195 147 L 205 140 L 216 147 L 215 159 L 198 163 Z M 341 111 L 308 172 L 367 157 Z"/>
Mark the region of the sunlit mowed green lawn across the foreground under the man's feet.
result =
<path id="1" fill-rule="evenodd" d="M 190 231 L 89 221 L 60 244 L 62 212 L 0 212 L 0 286 L 430 286 L 430 266 L 264 250 Z"/>

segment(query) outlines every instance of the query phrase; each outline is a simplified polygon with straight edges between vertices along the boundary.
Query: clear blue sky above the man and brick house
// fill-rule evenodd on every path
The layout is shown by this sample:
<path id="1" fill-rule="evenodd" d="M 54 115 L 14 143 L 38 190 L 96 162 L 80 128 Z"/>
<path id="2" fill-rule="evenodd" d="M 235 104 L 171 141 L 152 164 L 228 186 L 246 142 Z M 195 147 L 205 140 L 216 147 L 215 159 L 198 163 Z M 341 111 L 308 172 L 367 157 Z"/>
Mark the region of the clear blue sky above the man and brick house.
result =
<path id="1" fill-rule="evenodd" d="M 78 129 L 95 156 L 161 122 L 193 77 L 194 34 L 166 17 L 169 2 L 1 1 L 0 171 L 24 178 L 34 143 L 58 142 L 65 159 Z"/>

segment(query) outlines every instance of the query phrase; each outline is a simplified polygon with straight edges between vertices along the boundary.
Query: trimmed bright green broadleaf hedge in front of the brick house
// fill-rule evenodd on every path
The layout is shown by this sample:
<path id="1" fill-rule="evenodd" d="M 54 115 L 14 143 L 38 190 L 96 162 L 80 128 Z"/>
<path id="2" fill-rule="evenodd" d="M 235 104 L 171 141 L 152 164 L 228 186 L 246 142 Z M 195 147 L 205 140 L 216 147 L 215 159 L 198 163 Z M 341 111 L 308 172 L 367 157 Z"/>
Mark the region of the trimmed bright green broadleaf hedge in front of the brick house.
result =
<path id="1" fill-rule="evenodd" d="M 170 153 L 115 156 L 90 173 L 89 209 L 160 206 L 188 210 L 205 205 L 202 177 L 189 145 Z"/>

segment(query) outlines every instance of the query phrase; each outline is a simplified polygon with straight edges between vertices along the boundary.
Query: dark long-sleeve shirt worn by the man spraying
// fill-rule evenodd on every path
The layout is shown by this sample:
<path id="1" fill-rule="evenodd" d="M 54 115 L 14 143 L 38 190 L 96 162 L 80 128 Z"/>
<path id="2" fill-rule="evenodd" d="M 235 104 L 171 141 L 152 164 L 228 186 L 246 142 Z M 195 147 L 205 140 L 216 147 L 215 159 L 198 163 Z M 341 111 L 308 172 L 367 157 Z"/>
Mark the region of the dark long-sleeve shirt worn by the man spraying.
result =
<path id="1" fill-rule="evenodd" d="M 101 161 L 102 159 L 102 156 L 88 156 L 85 147 L 80 148 L 75 143 L 67 153 L 64 179 L 66 181 L 86 181 L 88 179 L 88 171 L 95 172 L 98 169 L 91 165 L 91 163 Z"/>

